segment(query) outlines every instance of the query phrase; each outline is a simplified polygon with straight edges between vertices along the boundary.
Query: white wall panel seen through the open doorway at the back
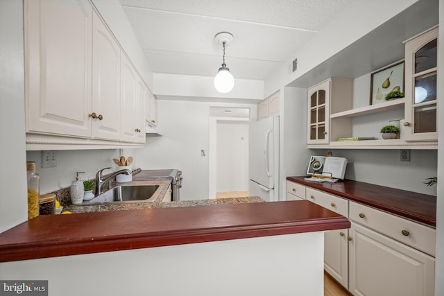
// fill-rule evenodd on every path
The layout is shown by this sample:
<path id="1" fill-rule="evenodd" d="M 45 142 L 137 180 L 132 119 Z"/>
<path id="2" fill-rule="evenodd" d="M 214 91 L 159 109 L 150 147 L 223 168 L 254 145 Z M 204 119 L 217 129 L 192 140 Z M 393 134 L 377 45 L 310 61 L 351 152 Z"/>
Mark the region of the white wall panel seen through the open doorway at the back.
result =
<path id="1" fill-rule="evenodd" d="M 216 191 L 248 191 L 248 121 L 219 121 Z"/>

